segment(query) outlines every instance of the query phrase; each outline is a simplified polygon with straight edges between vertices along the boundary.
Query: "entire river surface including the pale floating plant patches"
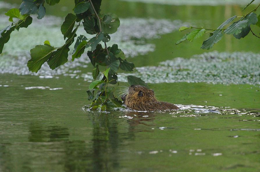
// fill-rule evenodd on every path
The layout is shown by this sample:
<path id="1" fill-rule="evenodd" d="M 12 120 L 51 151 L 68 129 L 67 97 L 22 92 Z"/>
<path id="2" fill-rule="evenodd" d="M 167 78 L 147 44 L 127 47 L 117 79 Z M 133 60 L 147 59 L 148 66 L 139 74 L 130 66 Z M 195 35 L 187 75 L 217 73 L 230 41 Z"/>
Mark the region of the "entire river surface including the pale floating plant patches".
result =
<path id="1" fill-rule="evenodd" d="M 19 3 L 0 1 L 1 28 Z M 225 35 L 211 50 L 200 49 L 206 36 L 175 45 L 180 26 L 217 28 L 247 1 L 102 2 L 101 12 L 121 21 L 109 45 L 119 45 L 159 100 L 180 107 L 159 112 L 90 111 L 86 56 L 29 72 L 31 48 L 63 45 L 60 25 L 73 3 L 47 6 L 0 55 L 0 171 L 260 171 L 259 39 Z"/>

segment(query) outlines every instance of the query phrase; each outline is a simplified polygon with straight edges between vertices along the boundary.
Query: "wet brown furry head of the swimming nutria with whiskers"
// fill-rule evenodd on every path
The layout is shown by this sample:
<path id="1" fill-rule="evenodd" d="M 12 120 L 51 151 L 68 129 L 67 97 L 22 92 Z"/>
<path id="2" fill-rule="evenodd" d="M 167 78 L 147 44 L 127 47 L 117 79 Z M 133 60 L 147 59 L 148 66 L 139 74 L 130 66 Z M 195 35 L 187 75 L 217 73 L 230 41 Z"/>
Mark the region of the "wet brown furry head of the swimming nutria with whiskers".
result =
<path id="1" fill-rule="evenodd" d="M 141 85 L 131 85 L 128 93 L 121 98 L 124 104 L 132 109 L 144 109 L 147 104 L 157 101 L 154 91 Z"/>

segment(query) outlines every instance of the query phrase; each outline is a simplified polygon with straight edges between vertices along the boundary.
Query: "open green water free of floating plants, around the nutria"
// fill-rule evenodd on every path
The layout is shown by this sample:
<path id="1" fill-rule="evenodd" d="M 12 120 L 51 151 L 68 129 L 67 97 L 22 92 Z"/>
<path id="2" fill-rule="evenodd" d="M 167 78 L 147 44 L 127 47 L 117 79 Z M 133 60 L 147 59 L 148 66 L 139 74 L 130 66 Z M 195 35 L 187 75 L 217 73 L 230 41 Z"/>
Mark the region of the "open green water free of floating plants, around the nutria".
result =
<path id="1" fill-rule="evenodd" d="M 61 0 L 48 6 L 47 14 L 64 18 L 73 3 Z M 101 9 L 122 19 L 179 19 L 210 28 L 234 14 L 242 15 L 236 4 L 173 6 L 104 0 Z M 1 14 L 6 10 L 1 9 Z M 175 46 L 182 35 L 172 32 L 147 39 L 145 43 L 155 45 L 154 51 L 128 60 L 136 67 L 158 66 L 175 57 L 206 52 L 200 49 L 206 37 Z M 252 34 L 241 40 L 225 36 L 213 50 L 259 53 L 259 39 Z M 92 72 L 91 65 L 80 69 L 80 73 Z M 0 171 L 260 171 L 259 85 L 149 83 L 159 100 L 181 109 L 102 113 L 84 107 L 90 103 L 89 82 L 58 77 L 0 74 Z M 26 89 L 33 86 L 47 88 Z"/>

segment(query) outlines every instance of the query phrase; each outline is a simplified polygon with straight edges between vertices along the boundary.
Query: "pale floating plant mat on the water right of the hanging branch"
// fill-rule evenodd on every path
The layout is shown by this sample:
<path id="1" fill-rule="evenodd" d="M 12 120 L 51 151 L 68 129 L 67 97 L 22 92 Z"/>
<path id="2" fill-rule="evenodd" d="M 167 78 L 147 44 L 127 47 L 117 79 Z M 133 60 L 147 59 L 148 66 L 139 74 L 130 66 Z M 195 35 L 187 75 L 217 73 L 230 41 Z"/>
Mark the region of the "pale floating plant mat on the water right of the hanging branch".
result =
<path id="1" fill-rule="evenodd" d="M 260 54 L 208 52 L 191 58 L 174 58 L 159 66 L 136 68 L 147 83 L 213 83 L 260 85 Z M 121 81 L 123 77 L 120 78 Z"/>

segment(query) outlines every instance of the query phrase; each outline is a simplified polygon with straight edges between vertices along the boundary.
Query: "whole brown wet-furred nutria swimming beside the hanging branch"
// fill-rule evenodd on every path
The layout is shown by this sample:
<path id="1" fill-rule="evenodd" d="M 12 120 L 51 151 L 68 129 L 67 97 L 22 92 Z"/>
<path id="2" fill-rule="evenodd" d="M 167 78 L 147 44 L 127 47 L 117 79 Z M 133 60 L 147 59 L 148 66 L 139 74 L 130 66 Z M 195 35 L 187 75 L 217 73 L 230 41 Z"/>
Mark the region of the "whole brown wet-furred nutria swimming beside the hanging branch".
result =
<path id="1" fill-rule="evenodd" d="M 122 100 L 127 107 L 140 111 L 172 110 L 179 109 L 174 104 L 159 102 L 154 97 L 154 91 L 141 85 L 131 85 L 128 94 L 123 95 Z"/>

